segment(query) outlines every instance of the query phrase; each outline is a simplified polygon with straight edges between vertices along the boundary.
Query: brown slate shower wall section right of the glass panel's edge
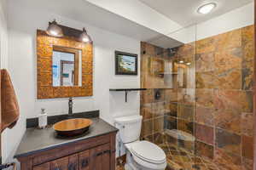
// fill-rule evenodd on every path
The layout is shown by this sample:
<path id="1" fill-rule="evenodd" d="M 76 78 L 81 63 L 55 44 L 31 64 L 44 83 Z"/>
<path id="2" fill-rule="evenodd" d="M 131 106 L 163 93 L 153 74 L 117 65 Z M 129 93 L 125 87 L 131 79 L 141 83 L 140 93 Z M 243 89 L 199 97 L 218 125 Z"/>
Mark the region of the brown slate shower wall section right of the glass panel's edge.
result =
<path id="1" fill-rule="evenodd" d="M 252 169 L 253 26 L 196 42 L 195 152 Z"/>

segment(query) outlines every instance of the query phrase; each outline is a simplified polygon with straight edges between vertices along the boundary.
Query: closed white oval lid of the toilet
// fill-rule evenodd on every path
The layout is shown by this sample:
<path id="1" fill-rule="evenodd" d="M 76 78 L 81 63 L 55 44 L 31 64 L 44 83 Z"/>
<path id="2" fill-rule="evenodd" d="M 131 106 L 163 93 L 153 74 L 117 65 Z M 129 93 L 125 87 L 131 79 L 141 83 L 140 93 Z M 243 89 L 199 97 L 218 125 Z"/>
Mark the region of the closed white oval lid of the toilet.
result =
<path id="1" fill-rule="evenodd" d="M 151 163 L 163 163 L 166 161 L 165 152 L 156 144 L 148 141 L 141 141 L 136 144 L 132 144 L 131 153 L 134 156 Z"/>

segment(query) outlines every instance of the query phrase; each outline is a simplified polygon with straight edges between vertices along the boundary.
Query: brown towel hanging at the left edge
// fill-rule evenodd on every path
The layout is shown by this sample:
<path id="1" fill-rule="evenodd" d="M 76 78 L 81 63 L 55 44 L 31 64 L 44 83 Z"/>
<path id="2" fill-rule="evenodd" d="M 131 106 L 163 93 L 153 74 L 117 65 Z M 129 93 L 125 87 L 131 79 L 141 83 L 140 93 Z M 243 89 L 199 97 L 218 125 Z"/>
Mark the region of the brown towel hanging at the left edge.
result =
<path id="1" fill-rule="evenodd" d="M 1 132 L 6 127 L 12 128 L 20 116 L 18 101 L 15 95 L 15 88 L 7 70 L 1 70 Z"/>

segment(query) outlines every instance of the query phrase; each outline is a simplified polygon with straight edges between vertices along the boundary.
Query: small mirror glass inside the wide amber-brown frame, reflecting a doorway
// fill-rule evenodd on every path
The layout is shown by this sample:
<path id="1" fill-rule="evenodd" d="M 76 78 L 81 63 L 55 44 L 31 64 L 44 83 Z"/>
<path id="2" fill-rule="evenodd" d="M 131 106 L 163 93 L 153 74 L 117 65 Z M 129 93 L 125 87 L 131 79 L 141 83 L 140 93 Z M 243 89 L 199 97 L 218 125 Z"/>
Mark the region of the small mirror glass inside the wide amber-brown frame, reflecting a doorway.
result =
<path id="1" fill-rule="evenodd" d="M 54 87 L 81 86 L 81 51 L 73 48 L 54 47 L 52 78 Z"/>

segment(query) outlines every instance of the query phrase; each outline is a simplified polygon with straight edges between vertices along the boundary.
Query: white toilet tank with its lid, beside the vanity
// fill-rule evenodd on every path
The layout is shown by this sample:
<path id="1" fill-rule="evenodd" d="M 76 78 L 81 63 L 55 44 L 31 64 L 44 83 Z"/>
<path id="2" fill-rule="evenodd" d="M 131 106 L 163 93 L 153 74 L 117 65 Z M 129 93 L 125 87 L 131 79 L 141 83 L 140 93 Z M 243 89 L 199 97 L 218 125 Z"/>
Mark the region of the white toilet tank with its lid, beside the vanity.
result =
<path id="1" fill-rule="evenodd" d="M 115 118 L 119 137 L 124 144 L 134 142 L 140 138 L 143 116 L 123 116 Z"/>

